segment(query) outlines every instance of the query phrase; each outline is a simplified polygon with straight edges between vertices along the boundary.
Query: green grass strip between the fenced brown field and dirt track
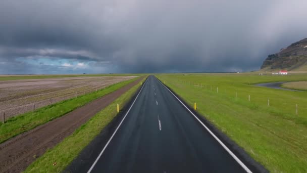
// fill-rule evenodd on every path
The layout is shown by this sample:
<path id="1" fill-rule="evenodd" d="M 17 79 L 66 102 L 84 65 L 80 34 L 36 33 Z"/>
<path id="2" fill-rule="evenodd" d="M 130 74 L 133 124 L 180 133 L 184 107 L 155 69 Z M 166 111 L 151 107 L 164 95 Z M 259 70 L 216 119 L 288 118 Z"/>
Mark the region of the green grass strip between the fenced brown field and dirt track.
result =
<path id="1" fill-rule="evenodd" d="M 73 98 L 70 100 L 61 101 L 53 105 L 39 108 L 35 112 L 27 112 L 22 115 L 9 118 L 5 124 L 0 122 L 0 143 L 3 143 L 21 133 L 29 131 L 38 125 L 63 116 L 92 100 L 121 88 L 137 78 L 138 77 L 107 86 L 102 90 L 78 97 L 77 99 Z"/>

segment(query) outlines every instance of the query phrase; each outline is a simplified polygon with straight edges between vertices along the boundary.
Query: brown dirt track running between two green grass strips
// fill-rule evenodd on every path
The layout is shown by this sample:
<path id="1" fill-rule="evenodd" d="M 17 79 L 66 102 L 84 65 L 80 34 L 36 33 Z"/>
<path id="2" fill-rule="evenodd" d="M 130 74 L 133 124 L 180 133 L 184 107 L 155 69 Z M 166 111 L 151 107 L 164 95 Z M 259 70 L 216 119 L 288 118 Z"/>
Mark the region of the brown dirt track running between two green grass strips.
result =
<path id="1" fill-rule="evenodd" d="M 21 172 L 48 148 L 60 143 L 80 125 L 104 109 L 142 78 L 123 88 L 82 106 L 65 116 L 49 121 L 29 132 L 0 144 L 0 172 Z"/>

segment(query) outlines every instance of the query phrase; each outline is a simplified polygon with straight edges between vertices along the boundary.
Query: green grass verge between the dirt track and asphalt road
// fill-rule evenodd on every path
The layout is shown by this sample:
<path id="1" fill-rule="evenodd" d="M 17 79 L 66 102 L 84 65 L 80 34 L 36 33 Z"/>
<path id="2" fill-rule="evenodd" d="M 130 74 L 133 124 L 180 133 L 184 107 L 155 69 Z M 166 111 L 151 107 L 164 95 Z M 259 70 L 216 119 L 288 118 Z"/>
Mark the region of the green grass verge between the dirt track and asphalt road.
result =
<path id="1" fill-rule="evenodd" d="M 79 127 L 73 135 L 64 139 L 56 147 L 48 150 L 42 157 L 33 162 L 25 172 L 61 172 L 117 115 L 116 104 L 125 105 L 139 86 L 138 84 L 135 85 L 111 105 L 98 112 Z M 57 164 L 53 165 L 54 163 Z"/>

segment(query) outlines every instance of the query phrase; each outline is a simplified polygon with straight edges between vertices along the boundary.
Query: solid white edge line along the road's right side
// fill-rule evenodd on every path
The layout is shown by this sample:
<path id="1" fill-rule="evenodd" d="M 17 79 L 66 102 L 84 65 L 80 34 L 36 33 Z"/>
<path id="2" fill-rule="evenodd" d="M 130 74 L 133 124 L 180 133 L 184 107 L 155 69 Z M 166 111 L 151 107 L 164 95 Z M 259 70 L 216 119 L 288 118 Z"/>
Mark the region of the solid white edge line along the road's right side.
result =
<path id="1" fill-rule="evenodd" d="M 251 170 L 248 169 L 248 167 L 217 137 L 214 135 L 213 132 L 210 131 L 210 129 L 204 125 L 196 115 L 187 107 L 185 104 L 181 102 L 180 99 L 178 99 L 177 96 L 175 96 L 160 80 L 158 80 L 197 120 L 198 122 L 201 123 L 201 125 L 207 129 L 207 131 L 220 143 L 220 145 L 239 163 L 240 166 L 246 171 L 246 172 L 252 172 Z"/>

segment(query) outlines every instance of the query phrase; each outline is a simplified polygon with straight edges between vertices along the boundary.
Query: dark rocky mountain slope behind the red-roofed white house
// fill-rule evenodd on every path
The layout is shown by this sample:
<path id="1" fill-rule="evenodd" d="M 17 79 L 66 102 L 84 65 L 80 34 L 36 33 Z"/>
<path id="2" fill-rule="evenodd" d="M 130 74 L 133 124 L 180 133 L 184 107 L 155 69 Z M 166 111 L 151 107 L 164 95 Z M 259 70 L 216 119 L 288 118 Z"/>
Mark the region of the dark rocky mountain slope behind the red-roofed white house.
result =
<path id="1" fill-rule="evenodd" d="M 279 69 L 307 70 L 307 38 L 294 42 L 276 54 L 269 55 L 261 66 L 261 70 L 266 71 Z"/>

